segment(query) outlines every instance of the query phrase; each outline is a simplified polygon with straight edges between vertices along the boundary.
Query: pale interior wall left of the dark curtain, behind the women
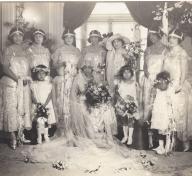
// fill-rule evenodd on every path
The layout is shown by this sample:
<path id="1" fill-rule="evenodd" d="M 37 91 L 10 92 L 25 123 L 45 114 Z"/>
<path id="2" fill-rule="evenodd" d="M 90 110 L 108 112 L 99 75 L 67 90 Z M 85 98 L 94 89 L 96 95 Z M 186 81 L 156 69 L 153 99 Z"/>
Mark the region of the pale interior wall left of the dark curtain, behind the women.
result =
<path id="1" fill-rule="evenodd" d="M 7 35 L 11 29 L 5 23 L 14 23 L 16 2 L 2 2 L 1 49 L 6 46 Z M 62 43 L 63 2 L 24 2 L 24 19 L 37 28 L 42 28 L 57 45 Z"/>

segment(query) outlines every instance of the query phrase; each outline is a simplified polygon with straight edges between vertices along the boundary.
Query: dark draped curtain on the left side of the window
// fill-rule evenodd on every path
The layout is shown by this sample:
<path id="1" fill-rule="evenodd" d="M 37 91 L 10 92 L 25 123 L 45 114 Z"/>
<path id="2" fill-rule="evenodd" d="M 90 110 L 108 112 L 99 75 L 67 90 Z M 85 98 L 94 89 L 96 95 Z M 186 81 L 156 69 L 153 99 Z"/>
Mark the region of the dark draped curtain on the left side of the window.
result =
<path id="1" fill-rule="evenodd" d="M 96 2 L 65 2 L 63 25 L 65 28 L 75 30 L 81 26 L 91 15 Z"/>

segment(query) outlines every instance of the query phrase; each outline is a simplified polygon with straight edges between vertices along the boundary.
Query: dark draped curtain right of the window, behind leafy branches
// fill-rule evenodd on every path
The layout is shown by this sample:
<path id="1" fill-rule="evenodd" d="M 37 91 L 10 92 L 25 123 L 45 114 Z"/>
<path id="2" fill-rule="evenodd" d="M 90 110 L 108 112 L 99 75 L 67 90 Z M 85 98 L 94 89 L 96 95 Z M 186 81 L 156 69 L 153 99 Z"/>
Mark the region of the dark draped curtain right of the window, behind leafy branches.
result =
<path id="1" fill-rule="evenodd" d="M 165 1 L 127 1 L 125 2 L 127 8 L 129 9 L 131 16 L 134 20 L 143 25 L 148 29 L 153 29 L 161 24 L 161 21 L 153 20 L 152 11 L 157 10 L 156 6 L 160 5 L 164 7 Z M 168 8 L 173 7 L 176 1 L 168 1 Z M 176 26 L 177 23 L 181 20 L 181 16 L 184 13 L 185 8 L 192 7 L 191 4 L 185 3 L 182 8 L 174 9 L 169 12 L 169 24 L 171 26 Z M 192 24 L 180 25 L 179 26 L 182 32 L 191 36 Z"/>

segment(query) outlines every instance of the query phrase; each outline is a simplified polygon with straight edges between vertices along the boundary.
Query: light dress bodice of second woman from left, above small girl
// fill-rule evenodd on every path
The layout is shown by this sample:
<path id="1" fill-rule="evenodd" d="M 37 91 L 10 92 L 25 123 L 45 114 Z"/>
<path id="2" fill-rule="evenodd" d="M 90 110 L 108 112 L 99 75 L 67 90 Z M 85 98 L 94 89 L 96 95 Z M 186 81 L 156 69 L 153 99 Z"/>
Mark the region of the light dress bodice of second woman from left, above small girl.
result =
<path id="1" fill-rule="evenodd" d="M 31 68 L 37 65 L 45 65 L 49 68 L 50 63 L 50 53 L 49 50 L 43 46 L 36 47 L 32 45 L 28 48 L 28 53 L 30 54 L 30 66 Z"/>

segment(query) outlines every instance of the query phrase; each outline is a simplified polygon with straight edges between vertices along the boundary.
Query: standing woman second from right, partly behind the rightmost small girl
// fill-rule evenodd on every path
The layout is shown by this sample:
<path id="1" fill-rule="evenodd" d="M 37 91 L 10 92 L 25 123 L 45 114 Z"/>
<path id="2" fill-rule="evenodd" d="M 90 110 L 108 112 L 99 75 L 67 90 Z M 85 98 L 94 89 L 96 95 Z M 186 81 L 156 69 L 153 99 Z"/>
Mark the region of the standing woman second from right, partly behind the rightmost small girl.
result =
<path id="1" fill-rule="evenodd" d="M 161 31 L 157 28 L 149 30 L 149 46 L 144 53 L 144 77 L 141 81 L 142 96 L 141 96 L 141 127 L 142 127 L 142 141 L 141 148 L 152 148 L 153 139 L 155 139 L 155 131 L 148 131 L 143 124 L 144 121 L 150 121 L 152 112 L 152 88 L 156 75 L 161 72 L 163 67 L 165 46 L 161 39 Z M 153 136 L 153 137 L 152 137 Z M 146 142 L 148 141 L 148 142 Z"/>

